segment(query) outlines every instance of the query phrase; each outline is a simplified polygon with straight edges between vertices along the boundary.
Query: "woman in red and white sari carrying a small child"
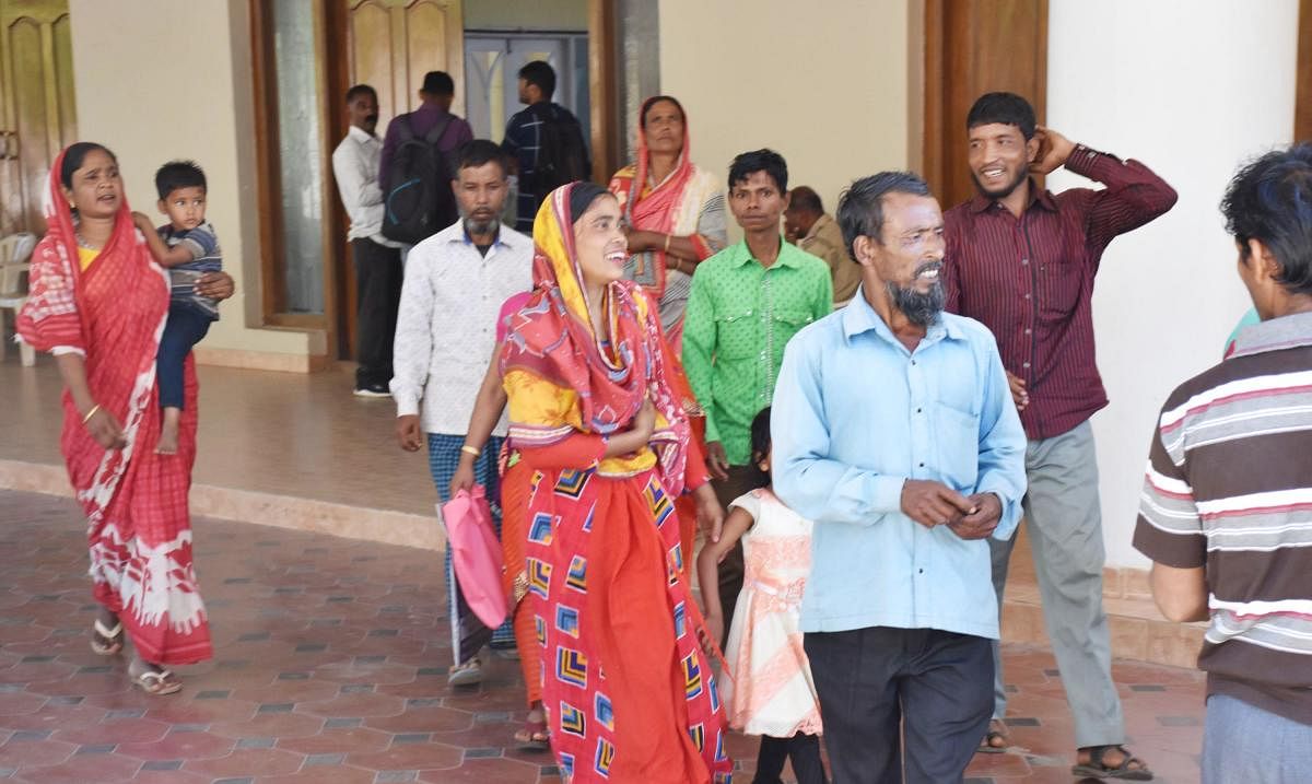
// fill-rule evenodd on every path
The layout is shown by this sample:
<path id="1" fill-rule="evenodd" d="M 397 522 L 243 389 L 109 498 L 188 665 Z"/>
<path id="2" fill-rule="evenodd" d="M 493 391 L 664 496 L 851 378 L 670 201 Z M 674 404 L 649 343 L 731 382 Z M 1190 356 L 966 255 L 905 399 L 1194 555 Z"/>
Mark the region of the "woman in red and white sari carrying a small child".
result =
<path id="1" fill-rule="evenodd" d="M 92 649 L 119 653 L 126 631 L 135 649 L 133 682 L 148 694 L 172 694 L 181 683 L 168 666 L 211 654 L 188 514 L 195 370 L 188 358 L 180 448 L 157 455 L 155 355 L 168 316 L 168 273 L 133 224 L 109 149 L 80 142 L 60 153 L 46 223 L 18 334 L 55 354 L 64 380 L 59 446 L 87 514 L 101 606 Z M 222 274 L 203 286 L 218 299 L 232 292 Z"/>

